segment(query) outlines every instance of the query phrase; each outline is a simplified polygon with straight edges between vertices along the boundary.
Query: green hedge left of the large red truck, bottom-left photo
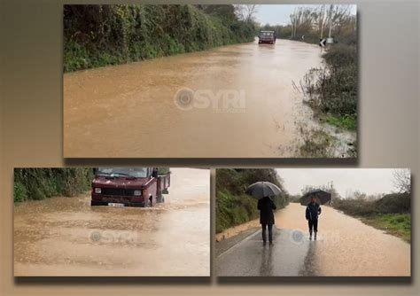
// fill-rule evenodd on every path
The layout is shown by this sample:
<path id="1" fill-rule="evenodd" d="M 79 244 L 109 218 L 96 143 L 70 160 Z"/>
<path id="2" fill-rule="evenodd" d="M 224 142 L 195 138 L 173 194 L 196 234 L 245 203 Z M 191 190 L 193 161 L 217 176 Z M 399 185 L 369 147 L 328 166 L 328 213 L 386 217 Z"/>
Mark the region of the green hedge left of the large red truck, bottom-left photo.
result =
<path id="1" fill-rule="evenodd" d="M 15 168 L 13 199 L 22 202 L 56 196 L 73 197 L 88 191 L 92 179 L 91 168 Z"/>

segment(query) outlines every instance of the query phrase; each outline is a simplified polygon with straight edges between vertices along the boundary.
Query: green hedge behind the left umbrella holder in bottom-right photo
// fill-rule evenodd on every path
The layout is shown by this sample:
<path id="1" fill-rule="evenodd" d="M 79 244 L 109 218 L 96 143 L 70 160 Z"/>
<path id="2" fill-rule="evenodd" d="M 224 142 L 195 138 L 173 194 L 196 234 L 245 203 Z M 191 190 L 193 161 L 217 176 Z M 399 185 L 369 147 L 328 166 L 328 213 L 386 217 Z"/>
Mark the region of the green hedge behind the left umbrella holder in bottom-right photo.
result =
<path id="1" fill-rule="evenodd" d="M 289 195 L 283 181 L 273 168 L 221 168 L 216 172 L 216 233 L 259 217 L 257 199 L 245 194 L 252 183 L 268 181 L 284 192 L 274 199 L 277 209 L 289 204 Z"/>

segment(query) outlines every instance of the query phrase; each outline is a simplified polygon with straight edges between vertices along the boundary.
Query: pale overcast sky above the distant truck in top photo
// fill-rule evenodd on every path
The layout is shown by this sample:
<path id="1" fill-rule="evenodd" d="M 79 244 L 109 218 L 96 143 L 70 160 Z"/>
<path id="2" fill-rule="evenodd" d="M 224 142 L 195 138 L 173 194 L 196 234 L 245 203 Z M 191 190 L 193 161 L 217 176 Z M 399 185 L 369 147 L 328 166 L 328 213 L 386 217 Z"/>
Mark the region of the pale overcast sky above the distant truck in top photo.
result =
<path id="1" fill-rule="evenodd" d="M 294 9 L 299 6 L 316 7 L 319 5 L 258 5 L 255 20 L 261 23 L 261 25 L 287 25 L 290 23 L 290 15 L 293 13 Z M 357 6 L 351 6 L 350 12 L 352 14 L 356 14 Z"/>

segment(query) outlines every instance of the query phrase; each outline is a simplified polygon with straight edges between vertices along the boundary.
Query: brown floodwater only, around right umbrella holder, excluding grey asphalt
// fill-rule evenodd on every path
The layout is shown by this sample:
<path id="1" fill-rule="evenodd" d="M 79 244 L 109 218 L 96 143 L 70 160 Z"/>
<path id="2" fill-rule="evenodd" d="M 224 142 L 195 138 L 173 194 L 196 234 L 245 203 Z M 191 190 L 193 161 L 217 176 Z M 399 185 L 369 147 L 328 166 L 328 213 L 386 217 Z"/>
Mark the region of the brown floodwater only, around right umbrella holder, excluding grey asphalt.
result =
<path id="1" fill-rule="evenodd" d="M 319 238 L 309 245 L 303 275 L 409 277 L 411 247 L 337 210 L 322 206 Z M 292 203 L 276 213 L 276 227 L 301 230 L 307 239 L 305 206 Z"/>

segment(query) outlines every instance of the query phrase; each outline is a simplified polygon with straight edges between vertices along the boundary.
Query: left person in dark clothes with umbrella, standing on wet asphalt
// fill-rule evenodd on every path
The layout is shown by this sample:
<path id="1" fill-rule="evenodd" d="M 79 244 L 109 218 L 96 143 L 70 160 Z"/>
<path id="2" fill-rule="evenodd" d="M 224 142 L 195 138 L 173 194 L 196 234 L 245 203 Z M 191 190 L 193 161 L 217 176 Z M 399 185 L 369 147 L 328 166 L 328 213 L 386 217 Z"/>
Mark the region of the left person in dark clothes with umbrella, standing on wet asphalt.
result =
<path id="1" fill-rule="evenodd" d="M 262 228 L 262 244 L 267 244 L 267 229 L 268 229 L 268 242 L 273 245 L 273 225 L 274 213 L 276 204 L 270 197 L 279 195 L 282 191 L 276 184 L 269 182 L 257 182 L 248 186 L 246 194 L 258 199 L 257 208 L 260 211 L 260 223 Z"/>

